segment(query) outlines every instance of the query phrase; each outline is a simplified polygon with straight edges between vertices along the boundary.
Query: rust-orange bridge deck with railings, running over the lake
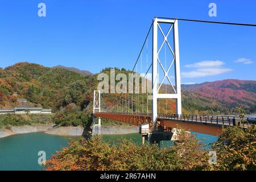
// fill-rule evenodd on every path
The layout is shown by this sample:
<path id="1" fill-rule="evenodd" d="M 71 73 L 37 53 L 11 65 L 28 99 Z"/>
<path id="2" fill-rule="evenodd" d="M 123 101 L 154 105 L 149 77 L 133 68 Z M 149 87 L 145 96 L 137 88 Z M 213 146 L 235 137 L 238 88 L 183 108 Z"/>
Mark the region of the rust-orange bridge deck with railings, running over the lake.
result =
<path id="1" fill-rule="evenodd" d="M 148 123 L 152 127 L 152 117 L 144 113 L 94 113 L 95 117 L 113 119 L 115 121 L 129 123 L 139 126 L 142 123 Z M 250 118 L 254 119 L 255 118 Z M 159 114 L 157 121 L 167 130 L 177 126 L 183 127 L 188 131 L 205 133 L 210 135 L 220 135 L 222 127 L 235 126 L 236 117 L 214 116 L 214 115 L 177 115 L 177 114 Z M 247 118 L 249 121 L 249 118 Z"/>

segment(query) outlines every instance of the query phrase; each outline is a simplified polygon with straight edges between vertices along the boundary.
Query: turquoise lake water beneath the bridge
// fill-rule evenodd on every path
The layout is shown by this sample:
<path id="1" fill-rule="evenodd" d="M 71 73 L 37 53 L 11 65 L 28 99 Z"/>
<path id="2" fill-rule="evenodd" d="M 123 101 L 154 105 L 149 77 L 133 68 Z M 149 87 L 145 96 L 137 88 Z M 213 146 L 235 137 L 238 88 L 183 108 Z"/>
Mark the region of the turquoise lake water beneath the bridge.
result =
<path id="1" fill-rule="evenodd" d="M 136 143 L 141 142 L 141 135 L 137 133 L 104 135 L 103 139 L 115 142 L 121 137 L 131 139 Z M 212 135 L 197 133 L 197 137 L 200 139 L 206 138 L 206 144 L 217 140 L 217 137 Z M 62 147 L 67 146 L 69 138 L 78 139 L 79 137 L 28 133 L 0 138 L 0 170 L 42 170 L 43 167 L 38 164 L 38 152 L 45 151 L 46 158 L 49 159 L 52 154 L 55 154 L 56 150 L 61 150 Z M 170 145 L 168 142 L 164 143 L 164 145 Z"/>

